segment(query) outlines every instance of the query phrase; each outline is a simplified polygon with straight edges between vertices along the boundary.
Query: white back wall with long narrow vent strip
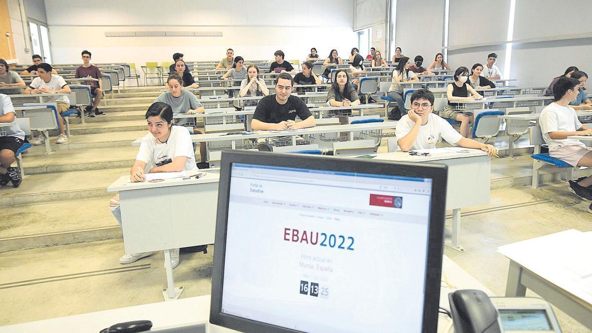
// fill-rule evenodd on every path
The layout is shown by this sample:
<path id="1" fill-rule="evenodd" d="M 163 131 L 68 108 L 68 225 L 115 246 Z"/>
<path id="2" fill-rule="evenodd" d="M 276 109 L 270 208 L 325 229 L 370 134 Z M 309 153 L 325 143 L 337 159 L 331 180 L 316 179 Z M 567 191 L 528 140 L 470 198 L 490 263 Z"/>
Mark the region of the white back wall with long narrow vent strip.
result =
<path id="1" fill-rule="evenodd" d="M 357 43 L 353 0 L 268 1 L 45 0 L 54 63 L 80 62 L 88 49 L 94 62 L 214 60 L 226 49 L 246 59 L 304 59 L 311 47 L 321 57 L 342 54 Z M 179 12 L 175 12 L 179 8 Z M 191 25 L 189 25 L 191 24 Z M 223 37 L 105 37 L 105 31 L 222 31 Z"/>

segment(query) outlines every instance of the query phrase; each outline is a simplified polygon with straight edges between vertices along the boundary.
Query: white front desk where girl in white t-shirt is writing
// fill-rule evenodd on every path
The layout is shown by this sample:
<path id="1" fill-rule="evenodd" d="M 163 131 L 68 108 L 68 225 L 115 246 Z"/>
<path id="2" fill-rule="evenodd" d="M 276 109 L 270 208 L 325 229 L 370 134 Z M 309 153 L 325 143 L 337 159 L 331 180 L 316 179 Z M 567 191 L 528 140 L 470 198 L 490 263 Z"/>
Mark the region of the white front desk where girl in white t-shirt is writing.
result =
<path id="1" fill-rule="evenodd" d="M 219 178 L 207 172 L 199 179 L 128 182 L 130 175 L 123 175 L 107 188 L 119 192 L 126 253 L 165 251 L 165 300 L 176 299 L 183 291 L 175 288 L 170 249 L 214 243 Z"/>

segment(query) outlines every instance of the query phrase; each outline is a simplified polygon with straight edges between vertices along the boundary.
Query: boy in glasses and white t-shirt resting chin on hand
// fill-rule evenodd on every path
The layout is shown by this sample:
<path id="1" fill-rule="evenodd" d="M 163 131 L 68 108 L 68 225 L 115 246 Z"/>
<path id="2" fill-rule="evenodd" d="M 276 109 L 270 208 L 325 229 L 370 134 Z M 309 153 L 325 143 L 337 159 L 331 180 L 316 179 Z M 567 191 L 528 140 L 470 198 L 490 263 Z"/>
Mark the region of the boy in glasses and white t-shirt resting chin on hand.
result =
<path id="1" fill-rule="evenodd" d="M 463 137 L 448 121 L 440 118 L 434 111 L 434 94 L 427 89 L 419 89 L 411 95 L 411 110 L 397 123 L 395 134 L 399 149 L 408 152 L 411 149 L 436 148 L 439 137 L 451 145 L 464 148 L 481 149 L 489 156 L 497 154 L 493 145 L 477 142 Z"/>

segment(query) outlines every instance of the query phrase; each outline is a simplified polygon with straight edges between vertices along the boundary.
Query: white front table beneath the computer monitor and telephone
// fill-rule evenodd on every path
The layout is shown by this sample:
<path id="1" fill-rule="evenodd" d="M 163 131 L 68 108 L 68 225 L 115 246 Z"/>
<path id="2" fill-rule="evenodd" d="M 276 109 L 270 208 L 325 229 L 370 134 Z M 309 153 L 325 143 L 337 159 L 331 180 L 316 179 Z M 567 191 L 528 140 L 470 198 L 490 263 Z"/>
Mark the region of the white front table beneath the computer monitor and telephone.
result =
<path id="1" fill-rule="evenodd" d="M 458 289 L 483 290 L 493 296 L 479 281 L 466 273 L 450 258 L 443 256 L 442 261 L 442 285 L 453 287 L 440 287 L 440 306 L 450 309 L 448 293 Z M 446 276 L 446 280 L 444 280 Z M 445 331 L 448 317 L 438 317 L 437 333 Z M 111 325 L 147 319 L 152 321 L 152 331 L 166 332 L 166 329 L 184 328 L 195 333 L 230 333 L 236 332 L 220 326 L 209 325 L 210 322 L 210 295 L 178 299 L 175 302 L 157 302 L 144 305 L 130 306 L 128 308 L 111 309 L 81 315 L 65 316 L 61 318 L 46 319 L 43 321 L 25 322 L 17 325 L 1 326 L 2 333 L 22 332 L 99 332 Z M 205 327 L 207 326 L 207 327 Z M 185 332 L 186 332 L 185 331 Z M 179 331 L 177 331 L 179 332 Z"/>

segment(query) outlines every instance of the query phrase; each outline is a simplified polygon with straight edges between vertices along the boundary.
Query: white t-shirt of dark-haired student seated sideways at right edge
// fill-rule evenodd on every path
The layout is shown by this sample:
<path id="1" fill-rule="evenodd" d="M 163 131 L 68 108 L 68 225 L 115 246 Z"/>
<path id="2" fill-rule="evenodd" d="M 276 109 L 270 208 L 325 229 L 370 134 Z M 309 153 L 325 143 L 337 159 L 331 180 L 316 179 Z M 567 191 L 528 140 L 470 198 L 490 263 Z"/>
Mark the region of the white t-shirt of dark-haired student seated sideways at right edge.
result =
<path id="1" fill-rule="evenodd" d="M 582 127 L 574 108 L 562 107 L 559 104 L 551 103 L 543 108 L 539 118 L 540 130 L 543 132 L 543 139 L 554 150 L 562 145 L 578 145 L 585 147 L 580 140 L 562 139 L 554 140 L 549 137 L 549 132 L 575 132 Z"/>

